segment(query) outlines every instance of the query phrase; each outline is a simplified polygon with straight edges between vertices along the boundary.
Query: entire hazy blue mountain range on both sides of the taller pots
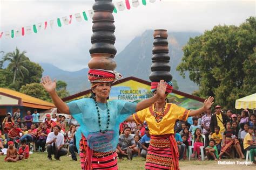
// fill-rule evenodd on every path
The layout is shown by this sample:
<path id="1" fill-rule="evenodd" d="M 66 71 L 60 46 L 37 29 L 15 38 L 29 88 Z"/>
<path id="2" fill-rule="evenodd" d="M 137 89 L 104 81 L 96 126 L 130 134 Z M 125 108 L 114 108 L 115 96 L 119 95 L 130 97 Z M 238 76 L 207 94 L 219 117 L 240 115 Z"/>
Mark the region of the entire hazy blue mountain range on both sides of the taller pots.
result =
<path id="1" fill-rule="evenodd" d="M 153 30 L 145 31 L 142 36 L 134 38 L 122 52 L 116 55 L 114 58 L 117 62 L 116 70 L 123 77 L 134 76 L 150 81 L 153 32 Z M 168 32 L 168 35 L 171 74 L 173 79 L 177 80 L 179 90 L 191 94 L 194 90 L 198 89 L 197 84 L 190 81 L 188 74 L 186 74 L 186 79 L 183 79 L 179 72 L 176 71 L 176 67 L 183 56 L 182 47 L 186 45 L 191 37 L 199 36 L 200 33 Z M 71 95 L 90 88 L 90 83 L 87 81 L 88 68 L 77 72 L 68 72 L 49 63 L 40 63 L 40 65 L 44 69 L 43 75 L 50 75 L 52 78 L 65 81 L 68 84 L 67 89 Z"/>

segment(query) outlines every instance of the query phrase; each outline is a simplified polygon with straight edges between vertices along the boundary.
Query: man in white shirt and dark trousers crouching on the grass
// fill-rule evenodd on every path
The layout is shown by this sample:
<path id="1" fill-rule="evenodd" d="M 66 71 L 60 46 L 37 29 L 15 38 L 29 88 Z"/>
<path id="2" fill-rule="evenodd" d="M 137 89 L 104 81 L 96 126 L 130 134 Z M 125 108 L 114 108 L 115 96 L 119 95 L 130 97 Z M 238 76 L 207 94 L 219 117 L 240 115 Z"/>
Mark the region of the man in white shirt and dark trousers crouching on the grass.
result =
<path id="1" fill-rule="evenodd" d="M 59 157 L 68 153 L 64 146 L 64 136 L 59 133 L 60 127 L 58 125 L 54 126 L 53 132 L 48 134 L 46 139 L 48 159 L 52 160 L 51 155 L 54 154 L 56 160 L 60 160 Z"/>

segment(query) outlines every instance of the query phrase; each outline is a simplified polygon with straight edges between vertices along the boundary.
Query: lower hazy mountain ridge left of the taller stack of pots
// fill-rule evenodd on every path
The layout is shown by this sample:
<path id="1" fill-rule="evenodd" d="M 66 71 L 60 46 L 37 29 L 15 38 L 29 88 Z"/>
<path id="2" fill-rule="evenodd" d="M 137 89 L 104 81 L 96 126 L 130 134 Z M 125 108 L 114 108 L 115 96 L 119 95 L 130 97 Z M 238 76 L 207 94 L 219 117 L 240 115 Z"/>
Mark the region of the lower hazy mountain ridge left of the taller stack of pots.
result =
<path id="1" fill-rule="evenodd" d="M 68 84 L 67 89 L 70 94 L 84 91 L 90 87 L 90 83 L 87 80 L 88 68 L 76 72 L 68 72 L 49 63 L 39 63 L 39 65 L 44 69 L 43 76 L 49 75 L 52 79 L 65 81 Z"/>

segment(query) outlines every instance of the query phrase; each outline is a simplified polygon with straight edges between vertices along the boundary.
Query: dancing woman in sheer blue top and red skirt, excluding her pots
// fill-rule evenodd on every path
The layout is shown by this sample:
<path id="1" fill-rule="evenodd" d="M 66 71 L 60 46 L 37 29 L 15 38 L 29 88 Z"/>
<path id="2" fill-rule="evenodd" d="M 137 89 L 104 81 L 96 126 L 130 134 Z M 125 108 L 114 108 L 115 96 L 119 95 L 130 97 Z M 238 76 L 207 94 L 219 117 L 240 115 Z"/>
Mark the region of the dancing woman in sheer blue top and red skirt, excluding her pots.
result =
<path id="1" fill-rule="evenodd" d="M 57 109 L 63 114 L 71 114 L 80 124 L 79 130 L 82 131 L 82 135 L 76 133 L 76 141 L 80 141 L 83 169 L 117 169 L 119 124 L 134 112 L 150 107 L 165 96 L 166 84 L 161 80 L 157 85 L 156 95 L 148 100 L 139 103 L 121 100 L 108 102 L 111 83 L 119 76 L 113 71 L 90 69 L 88 78 L 91 82 L 92 97 L 68 104 L 57 95 L 56 80 L 51 81 L 49 76 L 42 78 L 41 83 L 51 95 Z"/>

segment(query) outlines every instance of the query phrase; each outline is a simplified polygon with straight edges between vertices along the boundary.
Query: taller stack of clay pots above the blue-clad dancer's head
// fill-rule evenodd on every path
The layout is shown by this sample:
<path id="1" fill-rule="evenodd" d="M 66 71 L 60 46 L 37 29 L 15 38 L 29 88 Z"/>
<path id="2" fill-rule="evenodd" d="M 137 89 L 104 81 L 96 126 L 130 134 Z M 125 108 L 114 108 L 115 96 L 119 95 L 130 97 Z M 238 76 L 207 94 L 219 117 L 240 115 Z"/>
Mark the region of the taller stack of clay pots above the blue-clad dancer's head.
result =
<path id="1" fill-rule="evenodd" d="M 117 66 L 113 60 L 117 53 L 114 47 L 114 5 L 112 0 L 95 0 L 92 8 L 95 13 L 92 17 L 91 60 L 88 66 L 91 69 L 114 70 Z"/>

